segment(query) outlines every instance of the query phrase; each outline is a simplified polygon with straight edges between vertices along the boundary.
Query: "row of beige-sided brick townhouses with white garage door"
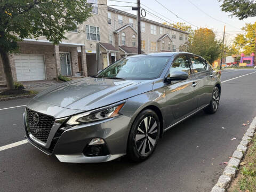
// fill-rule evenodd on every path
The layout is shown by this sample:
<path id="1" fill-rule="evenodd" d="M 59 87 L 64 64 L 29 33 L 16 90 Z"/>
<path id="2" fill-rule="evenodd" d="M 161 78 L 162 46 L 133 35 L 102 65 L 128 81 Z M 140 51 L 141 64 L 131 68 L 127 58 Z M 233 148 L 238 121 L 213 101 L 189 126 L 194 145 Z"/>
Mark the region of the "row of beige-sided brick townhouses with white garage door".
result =
<path id="1" fill-rule="evenodd" d="M 10 54 L 14 81 L 38 81 L 64 76 L 94 75 L 126 55 L 137 54 L 137 25 L 133 14 L 107 7 L 107 0 L 88 0 L 93 4 L 92 17 L 74 31 L 68 31 L 59 45 L 45 37 L 24 39 L 20 53 Z M 97 5 L 97 3 L 99 5 Z M 162 23 L 141 19 L 141 48 L 144 53 L 179 51 L 187 42 L 188 33 Z M 102 67 L 96 60 L 100 43 Z M 0 84 L 5 83 L 0 59 Z"/>

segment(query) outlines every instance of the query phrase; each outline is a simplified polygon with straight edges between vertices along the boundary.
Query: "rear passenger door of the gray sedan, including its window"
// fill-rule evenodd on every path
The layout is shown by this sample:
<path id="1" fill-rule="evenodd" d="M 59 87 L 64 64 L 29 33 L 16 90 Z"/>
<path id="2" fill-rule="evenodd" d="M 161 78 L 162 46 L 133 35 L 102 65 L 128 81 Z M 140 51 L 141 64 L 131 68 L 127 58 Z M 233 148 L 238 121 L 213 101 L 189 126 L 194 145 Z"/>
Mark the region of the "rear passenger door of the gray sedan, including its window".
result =
<path id="1" fill-rule="evenodd" d="M 198 84 L 197 107 L 203 107 L 210 103 L 214 79 L 205 60 L 196 55 L 189 55 L 189 60 L 192 67 L 192 74 Z"/>

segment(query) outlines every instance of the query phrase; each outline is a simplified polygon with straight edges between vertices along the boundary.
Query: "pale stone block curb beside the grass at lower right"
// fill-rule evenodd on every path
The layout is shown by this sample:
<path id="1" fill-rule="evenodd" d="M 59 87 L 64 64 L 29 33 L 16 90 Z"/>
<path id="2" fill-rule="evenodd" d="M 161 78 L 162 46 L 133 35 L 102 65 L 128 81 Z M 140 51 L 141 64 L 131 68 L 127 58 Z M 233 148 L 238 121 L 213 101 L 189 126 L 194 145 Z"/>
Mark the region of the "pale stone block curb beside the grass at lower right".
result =
<path id="1" fill-rule="evenodd" d="M 253 118 L 249 128 L 244 134 L 242 141 L 237 146 L 234 151 L 232 158 L 229 159 L 228 165 L 225 167 L 222 175 L 220 175 L 219 180 L 216 185 L 212 188 L 211 192 L 225 192 L 228 188 L 230 182 L 235 177 L 237 168 L 243 158 L 244 152 L 247 150 L 247 145 L 253 137 L 254 131 L 256 129 L 256 117 Z"/>

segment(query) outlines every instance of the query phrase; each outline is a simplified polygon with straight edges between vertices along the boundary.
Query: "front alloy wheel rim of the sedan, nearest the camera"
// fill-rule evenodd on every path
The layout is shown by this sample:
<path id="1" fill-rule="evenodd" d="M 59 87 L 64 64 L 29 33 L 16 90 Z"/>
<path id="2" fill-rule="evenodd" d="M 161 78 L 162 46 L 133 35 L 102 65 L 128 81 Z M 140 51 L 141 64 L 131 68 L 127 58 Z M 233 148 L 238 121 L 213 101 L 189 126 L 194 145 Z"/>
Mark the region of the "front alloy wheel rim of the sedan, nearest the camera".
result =
<path id="1" fill-rule="evenodd" d="M 139 124 L 136 132 L 135 143 L 139 154 L 148 154 L 155 146 L 157 141 L 157 123 L 151 117 L 145 117 Z"/>

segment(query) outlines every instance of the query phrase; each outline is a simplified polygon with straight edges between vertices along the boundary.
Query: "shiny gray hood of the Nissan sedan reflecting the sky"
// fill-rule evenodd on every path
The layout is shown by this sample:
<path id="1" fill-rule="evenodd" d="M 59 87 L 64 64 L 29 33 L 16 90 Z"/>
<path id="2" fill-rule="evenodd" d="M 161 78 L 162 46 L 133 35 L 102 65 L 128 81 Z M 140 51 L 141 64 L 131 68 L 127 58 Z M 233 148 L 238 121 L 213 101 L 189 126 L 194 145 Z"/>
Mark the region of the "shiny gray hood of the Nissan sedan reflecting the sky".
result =
<path id="1" fill-rule="evenodd" d="M 151 80 L 85 77 L 39 93 L 35 100 L 77 110 L 92 110 L 153 89 Z"/>

